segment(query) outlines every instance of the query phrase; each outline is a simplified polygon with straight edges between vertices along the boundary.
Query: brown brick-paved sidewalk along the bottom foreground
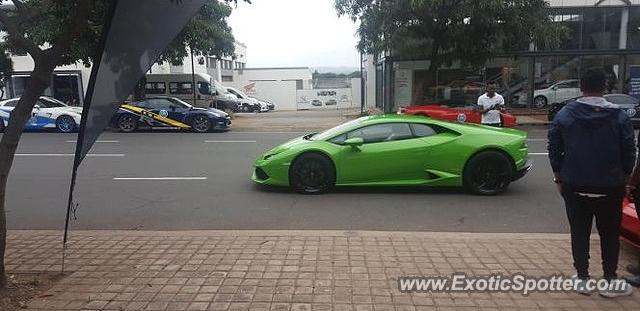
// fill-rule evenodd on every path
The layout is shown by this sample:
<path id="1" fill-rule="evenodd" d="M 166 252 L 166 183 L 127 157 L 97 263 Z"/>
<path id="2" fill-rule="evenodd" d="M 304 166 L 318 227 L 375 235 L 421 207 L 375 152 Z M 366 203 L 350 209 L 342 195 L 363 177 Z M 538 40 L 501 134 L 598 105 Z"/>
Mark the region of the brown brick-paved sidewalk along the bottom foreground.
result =
<path id="1" fill-rule="evenodd" d="M 59 271 L 60 233 L 11 231 L 9 272 Z M 599 247 L 591 263 L 601 275 Z M 625 248 L 621 266 L 633 251 Z M 638 310 L 640 292 L 403 294 L 399 276 L 571 274 L 554 234 L 72 232 L 68 275 L 30 310 Z"/>

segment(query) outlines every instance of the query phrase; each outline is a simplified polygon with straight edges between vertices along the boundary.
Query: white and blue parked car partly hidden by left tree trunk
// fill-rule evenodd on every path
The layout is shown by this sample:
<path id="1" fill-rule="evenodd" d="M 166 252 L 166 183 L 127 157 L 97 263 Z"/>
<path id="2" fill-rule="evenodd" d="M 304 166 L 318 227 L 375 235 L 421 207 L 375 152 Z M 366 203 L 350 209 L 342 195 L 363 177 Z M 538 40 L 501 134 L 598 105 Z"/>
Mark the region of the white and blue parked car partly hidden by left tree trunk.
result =
<path id="1" fill-rule="evenodd" d="M 19 100 L 20 98 L 12 98 L 0 101 L 0 130 L 4 130 L 9 124 L 9 116 Z M 55 98 L 41 96 L 33 107 L 25 129 L 56 129 L 61 133 L 70 133 L 78 130 L 81 117 L 82 107 L 67 106 Z"/>

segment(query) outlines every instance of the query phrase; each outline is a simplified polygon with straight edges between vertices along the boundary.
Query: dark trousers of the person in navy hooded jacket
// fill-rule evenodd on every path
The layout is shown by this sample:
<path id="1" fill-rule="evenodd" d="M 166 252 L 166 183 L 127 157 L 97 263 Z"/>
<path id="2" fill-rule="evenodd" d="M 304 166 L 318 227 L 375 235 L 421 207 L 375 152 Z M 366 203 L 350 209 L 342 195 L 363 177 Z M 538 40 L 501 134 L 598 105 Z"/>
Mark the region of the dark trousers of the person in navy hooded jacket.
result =
<path id="1" fill-rule="evenodd" d="M 573 266 L 578 277 L 589 277 L 589 240 L 593 218 L 600 235 L 602 270 L 606 279 L 617 278 L 618 257 L 620 255 L 620 226 L 622 221 L 622 200 L 624 188 L 602 191 L 606 197 L 590 198 L 579 195 L 575 188 L 564 185 L 567 217 L 571 226 L 571 252 Z"/>

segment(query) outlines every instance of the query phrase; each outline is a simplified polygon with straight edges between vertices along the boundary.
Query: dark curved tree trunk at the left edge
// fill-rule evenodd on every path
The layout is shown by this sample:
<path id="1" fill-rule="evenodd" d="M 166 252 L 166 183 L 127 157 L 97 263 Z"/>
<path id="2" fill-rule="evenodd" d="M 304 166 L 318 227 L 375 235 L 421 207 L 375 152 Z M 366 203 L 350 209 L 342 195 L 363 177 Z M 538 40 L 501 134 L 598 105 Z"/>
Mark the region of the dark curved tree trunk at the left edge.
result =
<path id="1" fill-rule="evenodd" d="M 49 87 L 54 67 L 51 64 L 36 64 L 25 92 L 11 112 L 9 124 L 0 141 L 0 289 L 6 288 L 7 285 L 4 267 L 4 254 L 7 246 L 7 215 L 5 211 L 7 180 L 24 126 L 31 117 L 33 106 L 38 98 Z"/>

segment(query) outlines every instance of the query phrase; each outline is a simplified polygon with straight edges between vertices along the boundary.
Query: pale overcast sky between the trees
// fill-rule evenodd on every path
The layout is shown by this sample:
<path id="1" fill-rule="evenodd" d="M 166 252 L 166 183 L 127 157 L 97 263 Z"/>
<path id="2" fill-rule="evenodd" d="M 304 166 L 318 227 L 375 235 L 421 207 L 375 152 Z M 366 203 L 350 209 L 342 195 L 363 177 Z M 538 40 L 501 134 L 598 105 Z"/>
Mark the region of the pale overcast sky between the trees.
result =
<path id="1" fill-rule="evenodd" d="M 247 67 L 358 67 L 356 25 L 334 0 L 238 1 L 229 19 L 247 45 Z"/>

